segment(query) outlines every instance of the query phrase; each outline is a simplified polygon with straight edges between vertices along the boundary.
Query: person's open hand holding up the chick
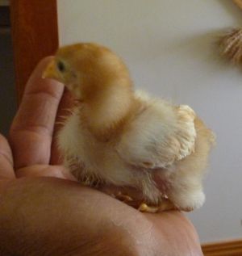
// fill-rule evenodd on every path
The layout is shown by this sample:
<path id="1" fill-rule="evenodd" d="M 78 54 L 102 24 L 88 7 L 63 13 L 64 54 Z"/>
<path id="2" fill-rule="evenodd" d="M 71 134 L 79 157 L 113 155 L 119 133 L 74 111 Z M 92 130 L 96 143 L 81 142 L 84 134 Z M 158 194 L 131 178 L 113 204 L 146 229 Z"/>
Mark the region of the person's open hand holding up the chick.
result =
<path id="1" fill-rule="evenodd" d="M 0 254 L 202 255 L 181 212 L 138 212 L 81 186 L 60 165 L 55 120 L 71 99 L 63 85 L 41 78 L 49 60 L 27 83 L 10 142 L 0 136 Z"/>

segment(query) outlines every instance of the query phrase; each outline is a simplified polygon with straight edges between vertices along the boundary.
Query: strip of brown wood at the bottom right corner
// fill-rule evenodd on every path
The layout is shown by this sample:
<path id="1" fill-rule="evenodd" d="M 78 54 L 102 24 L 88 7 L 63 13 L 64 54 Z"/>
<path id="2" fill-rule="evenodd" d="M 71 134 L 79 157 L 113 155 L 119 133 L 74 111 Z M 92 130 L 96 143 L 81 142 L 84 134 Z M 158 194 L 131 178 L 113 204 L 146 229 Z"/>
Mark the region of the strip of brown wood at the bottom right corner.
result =
<path id="1" fill-rule="evenodd" d="M 204 244 L 202 252 L 204 256 L 241 256 L 242 240 Z"/>

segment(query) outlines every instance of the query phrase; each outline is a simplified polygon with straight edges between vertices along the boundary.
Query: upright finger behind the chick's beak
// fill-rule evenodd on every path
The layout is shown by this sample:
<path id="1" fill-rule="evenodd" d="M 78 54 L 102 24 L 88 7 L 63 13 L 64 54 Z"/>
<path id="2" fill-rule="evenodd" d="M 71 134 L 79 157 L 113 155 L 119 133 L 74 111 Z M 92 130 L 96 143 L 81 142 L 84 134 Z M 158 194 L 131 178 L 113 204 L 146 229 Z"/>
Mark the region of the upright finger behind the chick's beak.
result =
<path id="1" fill-rule="evenodd" d="M 41 78 L 51 59 L 47 57 L 40 61 L 31 74 L 10 128 L 16 169 L 48 164 L 50 160 L 56 111 L 64 90 L 60 82 Z"/>

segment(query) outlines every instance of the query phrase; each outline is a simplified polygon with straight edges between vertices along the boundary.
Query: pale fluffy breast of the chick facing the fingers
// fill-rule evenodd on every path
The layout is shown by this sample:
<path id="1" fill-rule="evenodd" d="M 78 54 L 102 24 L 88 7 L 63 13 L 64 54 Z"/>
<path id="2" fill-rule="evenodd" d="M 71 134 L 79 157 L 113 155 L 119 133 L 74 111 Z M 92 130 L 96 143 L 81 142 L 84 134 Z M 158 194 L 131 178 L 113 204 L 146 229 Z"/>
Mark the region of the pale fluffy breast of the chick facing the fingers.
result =
<path id="1" fill-rule="evenodd" d="M 81 124 L 78 109 L 65 121 L 57 141 L 65 166 L 79 181 L 90 186 L 96 183 L 135 186 L 135 175 L 119 157 L 114 145 L 98 141 L 85 125 Z"/>

